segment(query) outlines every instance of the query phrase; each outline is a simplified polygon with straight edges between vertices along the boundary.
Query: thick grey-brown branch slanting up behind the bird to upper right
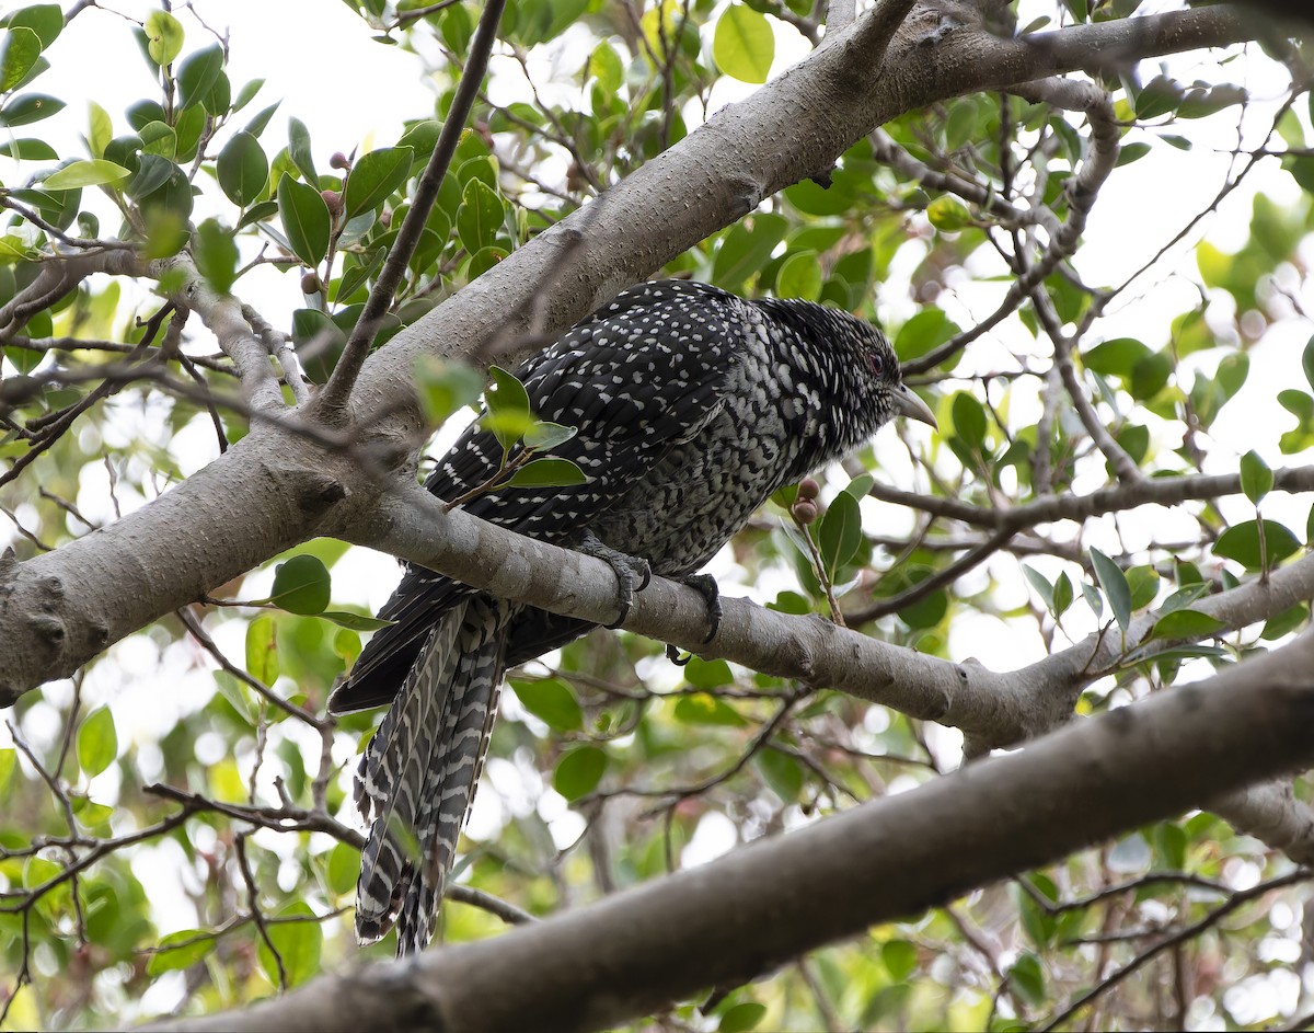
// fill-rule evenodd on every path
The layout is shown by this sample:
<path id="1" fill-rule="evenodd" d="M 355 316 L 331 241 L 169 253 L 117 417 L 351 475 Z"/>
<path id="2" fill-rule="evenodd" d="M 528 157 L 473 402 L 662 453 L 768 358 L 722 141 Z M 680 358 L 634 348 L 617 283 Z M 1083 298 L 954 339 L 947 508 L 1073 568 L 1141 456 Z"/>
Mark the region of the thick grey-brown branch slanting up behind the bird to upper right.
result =
<path id="1" fill-rule="evenodd" d="M 1152 57 L 1252 35 L 1229 9 L 1208 8 L 1021 39 L 959 26 L 929 45 L 920 14 L 918 8 L 890 42 L 880 75 L 855 80 L 853 60 L 861 55 L 853 47 L 819 50 L 398 334 L 367 360 L 357 382 L 363 447 L 381 463 L 405 465 L 420 428 L 411 389 L 420 355 L 468 355 L 494 339 L 514 342 L 540 311 L 543 329 L 560 331 L 763 197 L 824 172 L 854 139 L 896 114 L 1083 67 L 1101 47 Z M 870 17 L 851 33 L 861 34 Z M 557 277 L 566 250 L 572 275 Z M 533 302 L 543 284 L 551 287 L 540 306 Z M 0 611 L 11 615 L 0 612 L 0 704 L 70 674 L 124 635 L 279 551 L 365 520 L 381 490 L 372 472 L 344 455 L 280 427 L 258 427 L 162 499 L 11 564 L 0 574 Z M 193 548 L 180 557 L 176 543 L 184 536 Z"/>

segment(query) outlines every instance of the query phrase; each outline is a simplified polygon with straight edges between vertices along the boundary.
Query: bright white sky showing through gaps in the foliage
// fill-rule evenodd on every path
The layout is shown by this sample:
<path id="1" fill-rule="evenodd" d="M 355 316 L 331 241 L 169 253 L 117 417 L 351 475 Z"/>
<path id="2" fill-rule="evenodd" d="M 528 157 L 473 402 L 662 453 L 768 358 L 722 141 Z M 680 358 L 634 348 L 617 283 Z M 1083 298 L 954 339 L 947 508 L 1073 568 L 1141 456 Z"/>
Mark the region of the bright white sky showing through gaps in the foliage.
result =
<path id="1" fill-rule="evenodd" d="M 3 3 L 0 11 L 14 7 L 12 3 Z M 143 0 L 106 0 L 106 7 L 141 18 L 156 5 Z M 212 42 L 212 37 L 200 29 L 184 5 L 176 7 L 176 13 L 188 30 L 184 53 Z M 230 30 L 229 75 L 234 91 L 248 79 L 267 80 L 248 112 L 254 113 L 260 106 L 283 99 L 283 106 L 264 135 L 269 154 L 285 141 L 289 114 L 296 114 L 307 124 L 315 158 L 326 168 L 331 152 L 350 151 L 356 146 L 368 150 L 390 145 L 399 135 L 403 118 L 430 117 L 432 113 L 434 92 L 424 81 L 420 60 L 397 47 L 373 42 L 373 33 L 338 0 L 194 0 L 189 7 L 210 26 L 221 32 L 225 28 Z M 1146 9 L 1150 7 L 1144 5 Z M 1022 21 L 1026 20 L 1024 14 Z M 104 9 L 88 9 L 75 18 L 49 51 L 54 67 L 35 87 L 60 96 L 68 101 L 68 108 L 49 122 L 21 130 L 20 135 L 51 135 L 58 141 L 67 141 L 68 152 L 74 152 L 76 135 L 85 131 L 88 99 L 95 99 L 109 110 L 116 120 L 116 133 L 124 131 L 125 106 L 139 97 L 152 96 L 151 76 L 129 29 L 124 18 Z M 569 39 L 568 35 L 566 46 Z M 805 53 L 807 45 L 802 38 L 792 29 L 782 26 L 774 71 L 778 74 Z M 510 62 L 503 63 L 507 74 L 493 84 L 493 89 L 502 92 L 503 97 L 507 96 L 503 91 L 518 88 L 514 80 L 519 79 L 519 74 L 512 75 L 509 66 Z M 562 62 L 564 74 L 574 74 L 577 66 L 578 60 L 573 58 Z M 1212 63 L 1200 63 L 1198 68 L 1196 66 L 1196 58 L 1187 57 L 1177 59 L 1173 70 L 1187 80 L 1196 75 L 1206 79 L 1218 75 Z M 494 67 L 498 67 L 497 63 Z M 537 67 L 544 78 L 551 75 L 549 57 L 544 55 Z M 1281 99 L 1282 87 L 1279 70 L 1263 62 L 1256 63 L 1256 67 L 1257 79 L 1250 84 L 1260 101 L 1255 105 L 1255 127 L 1267 126 L 1271 116 L 1264 112 L 1271 112 L 1275 100 Z M 1238 64 L 1233 64 L 1227 71 L 1235 74 L 1236 68 Z M 1151 70 L 1146 78 L 1152 74 Z M 753 87 L 723 80 L 714 91 L 712 106 L 721 106 L 752 89 Z M 1226 152 L 1236 146 L 1234 118 L 1234 113 L 1225 114 L 1210 120 L 1208 127 L 1202 122 L 1192 122 L 1173 130 L 1197 139 L 1197 147 L 1190 152 L 1181 152 L 1160 145 L 1154 150 L 1154 162 L 1144 159 L 1113 175 L 1100 196 L 1077 256 L 1077 264 L 1089 283 L 1121 280 L 1208 204 L 1223 181 L 1229 160 Z M 24 170 L 22 175 L 28 172 L 30 168 Z M 12 163 L 0 160 L 0 179 L 13 183 L 20 177 Z M 1292 204 L 1298 196 L 1294 184 L 1277 171 L 1276 163 L 1263 166 L 1252 183 L 1255 187 L 1261 185 L 1281 204 Z M 1239 246 L 1244 239 L 1255 187 L 1238 191 L 1222 205 L 1219 216 L 1206 222 L 1206 231 L 1225 250 Z M 108 229 L 114 225 L 113 219 L 102 221 Z M 1168 319 L 1188 308 L 1196 297 L 1196 288 L 1180 273 L 1189 275 L 1193 271 L 1189 244 L 1198 235 L 1188 238 L 1187 244 L 1180 246 L 1162 269 L 1143 279 L 1133 304 L 1116 308 L 1114 314 L 1100 327 L 1104 336 L 1139 336 L 1151 347 L 1162 343 Z M 896 275 L 900 273 L 900 265 L 911 265 L 916 255 L 909 254 L 908 258 L 909 262 L 896 263 Z M 901 275 L 907 276 L 908 271 L 901 268 Z M 1294 272 L 1292 280 L 1298 281 Z M 276 322 L 285 321 L 301 302 L 297 277 L 280 276 L 272 271 L 258 283 L 243 280 L 242 293 Z M 980 318 L 993 309 L 996 297 L 996 288 L 971 288 L 950 304 L 959 308 L 954 313 L 955 318 L 970 325 L 972 314 Z M 1305 302 L 1314 306 L 1307 288 Z M 908 304 L 894 304 L 887 313 L 895 317 L 895 322 L 901 322 L 908 314 Z M 1309 323 L 1288 319 L 1276 325 L 1252 351 L 1251 380 L 1215 425 L 1214 438 L 1221 446 L 1214 456 L 1221 468 L 1235 469 L 1236 457 L 1252 447 L 1273 467 L 1289 461 L 1280 455 L 1277 438 L 1289 428 L 1292 418 L 1279 410 L 1272 400 L 1279 389 L 1302 382 L 1298 356 L 1310 333 Z M 974 347 L 972 361 L 982 369 L 1009 368 L 1012 357 L 1005 346 L 1013 343 L 1016 342 L 1005 338 L 999 338 L 995 343 L 987 339 Z M 1209 368 L 1217 360 L 1218 354 L 1209 354 L 1198 361 Z M 197 443 L 201 442 L 197 438 Z M 1177 442 L 1164 440 L 1158 444 L 1171 448 Z M 900 460 L 895 448 L 886 452 L 890 455 L 887 480 L 912 486 L 907 459 Z M 205 455 L 198 452 L 194 465 L 204 461 Z M 96 485 L 89 484 L 88 489 L 96 489 Z M 83 505 L 105 510 L 104 505 L 96 506 L 93 501 Z M 1234 519 L 1248 519 L 1247 505 L 1244 499 L 1239 503 L 1231 501 L 1226 503 L 1225 513 Z M 1293 528 L 1300 528 L 1303 526 L 1307 505 L 1307 501 L 1296 505 L 1292 499 L 1273 495 L 1265 502 L 1265 515 L 1285 519 Z M 882 520 L 883 527 L 905 519 L 901 514 L 887 509 L 876 511 L 875 507 L 867 516 Z M 1129 527 L 1134 547 L 1138 531 L 1134 523 L 1123 522 L 1122 530 L 1127 531 Z M 0 541 L 8 534 L 9 528 L 0 526 Z M 1143 528 L 1141 534 L 1148 536 L 1150 531 Z M 1163 526 L 1156 524 L 1154 534 L 1162 536 Z M 1099 544 L 1099 532 L 1095 541 Z M 714 569 L 733 580 L 731 564 L 717 564 Z M 377 606 L 393 587 L 394 570 L 386 559 L 356 551 L 335 569 L 335 601 L 359 601 Z M 989 573 L 1013 585 L 1016 591 L 1022 591 L 1013 560 L 1003 557 L 1000 562 L 991 565 Z M 986 572 L 979 572 L 979 577 L 984 578 Z M 251 585 L 254 593 L 259 594 L 259 584 Z M 1079 631 L 1084 632 L 1085 628 Z M 242 656 L 242 631 L 235 622 L 222 626 L 218 639 L 230 649 L 230 654 Z M 1004 669 L 1034 658 L 1041 649 L 1034 630 L 1012 628 L 987 618 L 959 622 L 951 640 L 951 653 L 955 657 L 976 656 Z M 184 647 L 171 649 L 162 665 L 154 644 L 129 640 L 116 647 L 114 658 L 116 664 L 101 664 L 93 670 L 87 695 L 92 703 L 114 700 L 120 740 L 125 746 L 133 739 L 143 743 L 167 731 L 177 712 L 194 706 L 210 691 L 208 676 L 188 670 L 194 654 Z M 58 689 L 49 689 L 47 694 L 50 699 L 63 695 Z M 37 718 L 37 712 L 33 716 Z M 50 711 L 50 720 L 54 718 L 54 711 Z M 54 728 L 50 731 L 54 732 Z M 0 736 L 3 735 L 0 731 Z M 222 748 L 222 744 L 214 745 Z M 498 781 L 495 770 L 490 771 L 490 777 Z M 102 778 L 112 778 L 112 774 Z M 109 789 L 109 783 L 105 787 Z M 484 794 L 480 799 L 489 800 L 491 806 L 493 794 Z M 495 823 L 495 817 L 493 820 Z M 480 815 L 476 814 L 476 825 L 478 821 Z"/>

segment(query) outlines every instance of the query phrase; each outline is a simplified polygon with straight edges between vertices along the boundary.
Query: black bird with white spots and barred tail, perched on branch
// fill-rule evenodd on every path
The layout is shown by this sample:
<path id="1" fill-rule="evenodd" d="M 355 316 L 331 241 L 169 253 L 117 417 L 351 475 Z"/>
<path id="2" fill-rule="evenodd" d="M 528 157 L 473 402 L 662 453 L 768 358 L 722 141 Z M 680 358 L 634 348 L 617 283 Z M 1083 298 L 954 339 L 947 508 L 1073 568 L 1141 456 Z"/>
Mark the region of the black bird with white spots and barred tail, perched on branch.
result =
<path id="1" fill-rule="evenodd" d="M 585 481 L 494 486 L 463 507 L 606 560 L 618 577 L 616 624 L 649 573 L 691 584 L 708 598 L 710 637 L 720 610 L 715 582 L 698 570 L 774 492 L 894 417 L 936 426 L 871 323 L 691 280 L 618 294 L 514 373 L 533 417 L 576 428 L 552 455 L 576 463 Z M 461 499 L 502 460 L 494 431 L 476 421 L 424 484 L 445 502 Z M 396 925 L 403 957 L 431 940 L 503 673 L 595 626 L 415 564 L 378 616 L 390 623 L 365 644 L 328 711 L 389 704 L 355 781 L 369 824 L 356 936 L 373 942 Z"/>

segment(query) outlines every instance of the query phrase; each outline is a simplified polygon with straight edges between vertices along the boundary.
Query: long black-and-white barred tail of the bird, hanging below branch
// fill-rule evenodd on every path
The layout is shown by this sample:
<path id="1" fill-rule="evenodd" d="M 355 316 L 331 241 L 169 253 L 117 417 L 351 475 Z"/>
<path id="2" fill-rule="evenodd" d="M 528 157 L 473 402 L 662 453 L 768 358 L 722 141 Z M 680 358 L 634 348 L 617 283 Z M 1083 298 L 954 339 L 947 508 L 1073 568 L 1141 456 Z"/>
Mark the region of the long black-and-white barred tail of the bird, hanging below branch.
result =
<path id="1" fill-rule="evenodd" d="M 372 821 L 356 884 L 356 937 L 397 924 L 397 954 L 423 950 L 497 716 L 515 607 L 473 595 L 434 626 L 356 773 Z"/>

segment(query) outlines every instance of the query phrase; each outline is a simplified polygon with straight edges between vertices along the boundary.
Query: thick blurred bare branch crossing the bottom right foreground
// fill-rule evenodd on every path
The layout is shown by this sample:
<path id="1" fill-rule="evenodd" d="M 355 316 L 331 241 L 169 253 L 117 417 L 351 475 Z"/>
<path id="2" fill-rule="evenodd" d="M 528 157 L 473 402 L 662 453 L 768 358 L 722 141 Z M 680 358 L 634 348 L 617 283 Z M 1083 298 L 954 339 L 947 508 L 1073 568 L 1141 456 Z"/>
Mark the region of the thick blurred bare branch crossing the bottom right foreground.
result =
<path id="1" fill-rule="evenodd" d="M 1306 633 L 1025 752 L 497 940 L 155 1028 L 604 1029 L 1314 761 L 1311 670 Z"/>

